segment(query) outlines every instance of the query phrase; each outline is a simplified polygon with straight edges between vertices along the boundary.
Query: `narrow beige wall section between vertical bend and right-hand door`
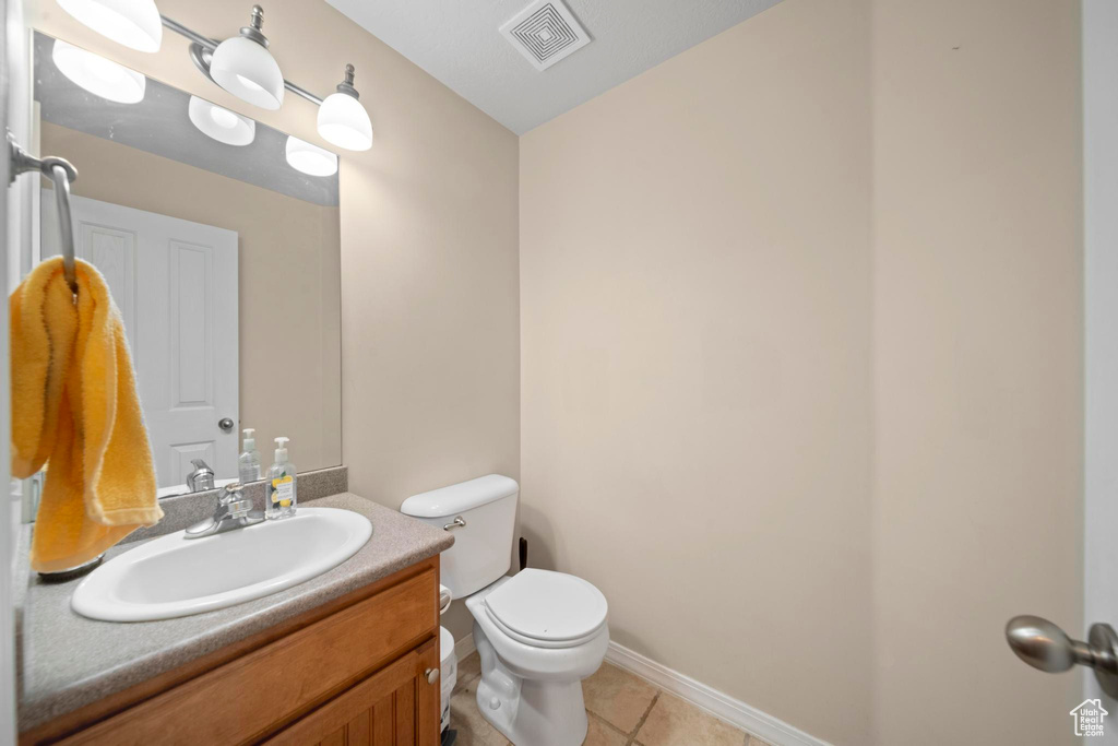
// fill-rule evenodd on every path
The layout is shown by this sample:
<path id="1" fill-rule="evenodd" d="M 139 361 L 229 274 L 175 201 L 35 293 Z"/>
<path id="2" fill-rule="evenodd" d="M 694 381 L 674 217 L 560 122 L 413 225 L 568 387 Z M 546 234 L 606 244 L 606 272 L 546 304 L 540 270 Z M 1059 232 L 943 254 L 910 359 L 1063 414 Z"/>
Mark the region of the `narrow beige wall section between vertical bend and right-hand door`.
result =
<path id="1" fill-rule="evenodd" d="M 1078 742 L 1079 3 L 873 9 L 875 742 Z"/>

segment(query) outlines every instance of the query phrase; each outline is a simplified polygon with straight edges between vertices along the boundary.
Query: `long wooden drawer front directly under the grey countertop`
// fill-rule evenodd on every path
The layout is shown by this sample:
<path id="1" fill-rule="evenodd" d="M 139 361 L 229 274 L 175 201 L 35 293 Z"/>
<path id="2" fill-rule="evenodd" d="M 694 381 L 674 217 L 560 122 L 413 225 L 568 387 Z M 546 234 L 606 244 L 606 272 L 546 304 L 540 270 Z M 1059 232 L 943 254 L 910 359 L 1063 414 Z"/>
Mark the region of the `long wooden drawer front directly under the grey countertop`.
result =
<path id="1" fill-rule="evenodd" d="M 436 570 L 427 569 L 63 743 L 198 746 L 257 740 L 416 648 L 425 636 L 437 639 L 437 632 L 438 579 Z"/>

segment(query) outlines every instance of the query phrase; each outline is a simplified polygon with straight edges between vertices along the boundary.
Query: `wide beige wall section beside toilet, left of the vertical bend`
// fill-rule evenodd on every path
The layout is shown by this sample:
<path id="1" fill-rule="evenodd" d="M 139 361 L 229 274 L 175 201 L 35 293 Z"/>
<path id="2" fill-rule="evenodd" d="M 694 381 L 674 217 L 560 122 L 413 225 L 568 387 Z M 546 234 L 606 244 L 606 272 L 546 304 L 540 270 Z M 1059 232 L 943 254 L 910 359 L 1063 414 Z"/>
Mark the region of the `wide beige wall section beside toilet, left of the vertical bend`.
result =
<path id="1" fill-rule="evenodd" d="M 612 638 L 870 734 L 870 38 L 786 0 L 521 139 L 522 510 Z"/>

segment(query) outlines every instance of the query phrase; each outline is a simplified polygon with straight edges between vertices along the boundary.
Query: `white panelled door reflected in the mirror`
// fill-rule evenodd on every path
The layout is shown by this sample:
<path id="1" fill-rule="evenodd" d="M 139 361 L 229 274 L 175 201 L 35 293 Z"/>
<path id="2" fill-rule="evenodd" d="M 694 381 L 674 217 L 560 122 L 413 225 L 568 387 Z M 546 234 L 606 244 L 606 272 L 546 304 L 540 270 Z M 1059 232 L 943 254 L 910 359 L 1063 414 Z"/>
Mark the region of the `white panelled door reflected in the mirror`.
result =
<path id="1" fill-rule="evenodd" d="M 160 488 L 201 459 L 237 476 L 237 233 L 73 197 L 77 256 L 105 276 L 124 318 Z M 57 254 L 54 196 L 42 253 Z"/>

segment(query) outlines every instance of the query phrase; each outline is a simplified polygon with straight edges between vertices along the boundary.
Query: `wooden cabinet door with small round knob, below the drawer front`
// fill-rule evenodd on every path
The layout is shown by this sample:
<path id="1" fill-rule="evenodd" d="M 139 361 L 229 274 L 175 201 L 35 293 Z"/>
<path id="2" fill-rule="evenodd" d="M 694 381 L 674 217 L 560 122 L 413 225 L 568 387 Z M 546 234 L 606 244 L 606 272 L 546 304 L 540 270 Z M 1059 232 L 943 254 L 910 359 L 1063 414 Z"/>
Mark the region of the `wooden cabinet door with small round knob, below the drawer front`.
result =
<path id="1" fill-rule="evenodd" d="M 269 746 L 435 746 L 439 740 L 438 642 L 432 640 L 342 692 L 267 742 Z"/>

